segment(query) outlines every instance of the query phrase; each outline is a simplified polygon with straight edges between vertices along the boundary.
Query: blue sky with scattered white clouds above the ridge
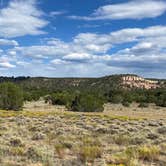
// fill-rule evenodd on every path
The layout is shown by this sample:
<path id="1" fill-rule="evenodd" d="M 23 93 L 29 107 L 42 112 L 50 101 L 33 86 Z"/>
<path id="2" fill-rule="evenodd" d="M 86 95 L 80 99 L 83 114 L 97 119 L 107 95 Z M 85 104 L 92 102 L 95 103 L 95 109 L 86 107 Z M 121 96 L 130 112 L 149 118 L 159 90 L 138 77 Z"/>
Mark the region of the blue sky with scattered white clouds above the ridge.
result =
<path id="1" fill-rule="evenodd" d="M 0 75 L 166 78 L 166 0 L 0 0 Z"/>

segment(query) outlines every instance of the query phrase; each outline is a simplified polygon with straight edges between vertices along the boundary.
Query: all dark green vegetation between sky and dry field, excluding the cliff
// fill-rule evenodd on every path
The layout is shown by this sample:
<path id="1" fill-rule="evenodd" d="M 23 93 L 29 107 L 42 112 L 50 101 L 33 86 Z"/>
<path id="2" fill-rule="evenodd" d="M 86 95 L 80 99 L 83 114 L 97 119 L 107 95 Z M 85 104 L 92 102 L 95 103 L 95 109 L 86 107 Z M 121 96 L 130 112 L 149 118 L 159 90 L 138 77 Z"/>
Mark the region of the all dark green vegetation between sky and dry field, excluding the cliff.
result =
<path id="1" fill-rule="evenodd" d="M 121 75 L 78 79 L 2 77 L 1 82 L 4 83 L 0 84 L 0 108 L 5 110 L 20 110 L 23 100 L 37 101 L 41 97 L 53 105 L 65 105 L 69 111 L 77 112 L 102 112 L 107 102 L 121 103 L 125 107 L 133 102 L 140 103 L 139 107 L 148 107 L 149 103 L 166 106 L 166 84 L 157 89 L 126 89 L 121 86 Z"/>

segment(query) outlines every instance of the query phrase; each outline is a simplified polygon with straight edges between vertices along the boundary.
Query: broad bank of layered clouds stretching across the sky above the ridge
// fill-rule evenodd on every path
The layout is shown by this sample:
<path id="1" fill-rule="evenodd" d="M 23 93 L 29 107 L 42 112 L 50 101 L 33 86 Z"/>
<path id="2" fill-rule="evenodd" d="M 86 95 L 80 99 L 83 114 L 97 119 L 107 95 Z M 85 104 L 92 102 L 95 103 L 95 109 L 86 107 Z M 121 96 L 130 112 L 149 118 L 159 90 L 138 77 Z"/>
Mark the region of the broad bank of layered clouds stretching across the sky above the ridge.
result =
<path id="1" fill-rule="evenodd" d="M 152 68 L 153 72 L 166 70 L 164 41 L 166 41 L 165 26 L 126 28 L 108 34 L 80 33 L 70 42 L 48 38 L 43 40 L 43 45 L 16 46 L 6 52 L 2 51 L 1 54 L 10 56 L 11 58 L 6 61 L 16 64 L 17 69 L 18 66 L 22 66 L 24 72 L 31 71 L 33 74 L 41 73 L 48 76 L 51 73 L 51 76 L 55 76 L 54 74 L 58 72 L 61 75 L 56 76 L 66 76 L 70 72 L 70 76 L 77 76 L 79 73 L 79 76 L 99 76 L 109 72 L 138 74 L 143 73 L 143 70 L 144 73 L 150 73 Z M 120 49 L 119 44 L 124 43 L 130 43 L 131 46 Z M 116 50 L 113 53 L 112 48 Z M 15 59 L 11 60 L 13 57 Z M 39 66 L 42 72 L 37 71 L 41 69 Z"/>

